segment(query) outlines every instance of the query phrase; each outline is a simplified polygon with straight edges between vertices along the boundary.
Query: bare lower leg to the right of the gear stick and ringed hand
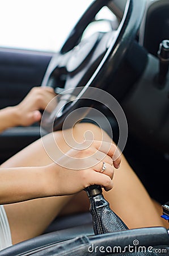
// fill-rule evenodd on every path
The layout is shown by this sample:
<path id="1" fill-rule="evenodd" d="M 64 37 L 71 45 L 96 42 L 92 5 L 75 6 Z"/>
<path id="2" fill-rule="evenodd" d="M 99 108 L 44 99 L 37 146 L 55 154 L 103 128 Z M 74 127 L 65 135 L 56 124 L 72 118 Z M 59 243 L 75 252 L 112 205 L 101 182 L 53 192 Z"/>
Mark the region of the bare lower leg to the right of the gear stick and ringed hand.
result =
<path id="1" fill-rule="evenodd" d="M 164 222 L 147 194 L 141 181 L 132 171 L 125 158 L 115 171 L 114 187 L 104 196 L 114 210 L 130 228 L 163 226 Z M 166 222 L 167 227 L 167 222 Z"/>

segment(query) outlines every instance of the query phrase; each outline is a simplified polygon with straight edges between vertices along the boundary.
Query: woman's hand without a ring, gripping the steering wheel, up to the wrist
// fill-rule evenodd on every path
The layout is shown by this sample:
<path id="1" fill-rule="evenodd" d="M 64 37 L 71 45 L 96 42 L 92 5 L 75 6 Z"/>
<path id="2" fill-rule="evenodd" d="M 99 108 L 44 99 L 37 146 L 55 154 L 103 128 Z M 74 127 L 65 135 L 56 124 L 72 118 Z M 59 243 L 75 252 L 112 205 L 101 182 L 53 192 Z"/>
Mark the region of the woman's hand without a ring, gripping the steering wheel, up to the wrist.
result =
<path id="1" fill-rule="evenodd" d="M 56 93 L 51 87 L 32 88 L 23 101 L 13 107 L 16 112 L 16 125 L 29 126 L 40 121 L 41 113 L 39 110 L 44 110 L 55 96 Z"/>

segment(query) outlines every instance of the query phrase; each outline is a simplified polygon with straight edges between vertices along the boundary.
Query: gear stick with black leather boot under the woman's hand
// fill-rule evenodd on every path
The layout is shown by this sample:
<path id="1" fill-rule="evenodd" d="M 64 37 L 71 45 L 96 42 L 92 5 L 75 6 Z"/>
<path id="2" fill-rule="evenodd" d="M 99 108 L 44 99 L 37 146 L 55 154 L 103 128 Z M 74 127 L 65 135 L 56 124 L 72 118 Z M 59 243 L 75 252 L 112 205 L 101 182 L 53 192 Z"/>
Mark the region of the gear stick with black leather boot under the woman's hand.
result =
<path id="1" fill-rule="evenodd" d="M 109 203 L 104 199 L 100 185 L 91 185 L 84 190 L 90 199 L 90 212 L 95 234 L 128 229 L 121 218 L 109 208 Z"/>

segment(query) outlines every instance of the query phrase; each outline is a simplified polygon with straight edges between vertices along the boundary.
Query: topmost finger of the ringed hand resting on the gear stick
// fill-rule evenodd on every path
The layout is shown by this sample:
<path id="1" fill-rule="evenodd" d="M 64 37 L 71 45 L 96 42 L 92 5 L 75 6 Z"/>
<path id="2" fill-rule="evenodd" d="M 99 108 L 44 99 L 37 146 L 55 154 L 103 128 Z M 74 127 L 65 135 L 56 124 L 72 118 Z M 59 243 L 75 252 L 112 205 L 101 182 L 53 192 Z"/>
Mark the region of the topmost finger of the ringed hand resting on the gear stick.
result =
<path id="1" fill-rule="evenodd" d="M 121 154 L 116 144 L 110 143 L 110 142 L 104 142 L 104 141 L 94 141 L 93 145 L 99 151 L 112 157 L 115 168 L 120 167 Z"/>

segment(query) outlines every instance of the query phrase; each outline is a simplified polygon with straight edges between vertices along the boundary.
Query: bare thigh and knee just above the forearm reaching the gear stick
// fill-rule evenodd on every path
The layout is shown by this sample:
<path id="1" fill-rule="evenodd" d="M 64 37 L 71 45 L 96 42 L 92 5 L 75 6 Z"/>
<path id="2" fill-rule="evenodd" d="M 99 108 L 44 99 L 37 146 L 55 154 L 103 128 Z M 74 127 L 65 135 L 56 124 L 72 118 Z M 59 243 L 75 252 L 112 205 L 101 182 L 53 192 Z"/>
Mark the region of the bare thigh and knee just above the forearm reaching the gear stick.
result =
<path id="1" fill-rule="evenodd" d="M 79 123 L 73 129 L 56 131 L 30 144 L 1 165 L 7 167 L 45 166 L 57 160 L 84 139 L 110 141 L 104 131 L 91 123 Z"/>

